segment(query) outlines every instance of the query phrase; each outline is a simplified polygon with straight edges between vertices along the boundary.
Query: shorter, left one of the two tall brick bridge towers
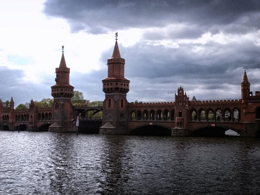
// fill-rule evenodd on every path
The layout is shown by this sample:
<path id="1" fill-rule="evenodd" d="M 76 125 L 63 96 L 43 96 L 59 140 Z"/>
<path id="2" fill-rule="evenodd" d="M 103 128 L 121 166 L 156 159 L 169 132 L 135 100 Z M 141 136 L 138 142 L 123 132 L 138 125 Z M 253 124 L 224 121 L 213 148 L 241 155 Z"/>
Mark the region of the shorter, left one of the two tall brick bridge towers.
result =
<path id="1" fill-rule="evenodd" d="M 59 68 L 55 69 L 56 84 L 51 86 L 51 95 L 54 97 L 52 117 L 49 131 L 73 132 L 73 97 L 74 87 L 69 84 L 70 69 L 67 68 L 62 46 L 62 56 Z"/>

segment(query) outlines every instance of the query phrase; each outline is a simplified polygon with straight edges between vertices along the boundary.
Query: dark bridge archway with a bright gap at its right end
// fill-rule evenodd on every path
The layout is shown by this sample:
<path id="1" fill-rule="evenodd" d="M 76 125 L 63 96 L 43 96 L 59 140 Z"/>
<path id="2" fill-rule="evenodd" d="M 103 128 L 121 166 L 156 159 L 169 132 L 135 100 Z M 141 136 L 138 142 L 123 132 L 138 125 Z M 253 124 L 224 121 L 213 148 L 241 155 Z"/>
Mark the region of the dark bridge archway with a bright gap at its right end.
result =
<path id="1" fill-rule="evenodd" d="M 212 127 L 211 124 L 205 124 L 196 128 L 191 129 L 192 136 L 205 136 L 205 137 L 222 137 L 225 136 L 225 132 L 231 129 L 232 131 L 240 134 L 240 130 L 229 127 L 222 124 L 215 124 L 215 127 Z"/>

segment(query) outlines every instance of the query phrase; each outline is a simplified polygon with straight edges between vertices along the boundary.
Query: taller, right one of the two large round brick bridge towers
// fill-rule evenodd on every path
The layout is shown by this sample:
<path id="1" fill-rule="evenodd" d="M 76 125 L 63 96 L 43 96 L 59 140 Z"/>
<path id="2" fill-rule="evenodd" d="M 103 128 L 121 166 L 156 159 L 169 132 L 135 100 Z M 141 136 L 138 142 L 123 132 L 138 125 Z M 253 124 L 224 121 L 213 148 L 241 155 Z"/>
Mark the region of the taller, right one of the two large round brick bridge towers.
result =
<path id="1" fill-rule="evenodd" d="M 108 76 L 102 80 L 105 100 L 103 101 L 101 134 L 129 134 L 128 101 L 129 80 L 125 78 L 125 59 L 121 58 L 117 33 L 112 56 L 107 60 Z"/>

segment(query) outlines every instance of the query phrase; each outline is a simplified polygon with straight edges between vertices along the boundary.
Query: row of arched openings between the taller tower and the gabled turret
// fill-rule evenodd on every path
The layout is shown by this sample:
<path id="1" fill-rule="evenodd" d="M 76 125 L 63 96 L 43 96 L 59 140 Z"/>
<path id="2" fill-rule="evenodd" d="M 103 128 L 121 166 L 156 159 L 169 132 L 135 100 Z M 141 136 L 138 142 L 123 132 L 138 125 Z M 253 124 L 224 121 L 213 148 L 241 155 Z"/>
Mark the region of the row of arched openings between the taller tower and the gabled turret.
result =
<path id="1" fill-rule="evenodd" d="M 137 112 L 132 110 L 130 112 L 130 120 L 174 120 L 174 110 L 171 112 L 167 109 L 163 112 L 161 110 L 157 110 L 156 112 L 154 110 L 150 112 L 147 110 L 143 112 L 141 110 L 137 110 Z"/>

